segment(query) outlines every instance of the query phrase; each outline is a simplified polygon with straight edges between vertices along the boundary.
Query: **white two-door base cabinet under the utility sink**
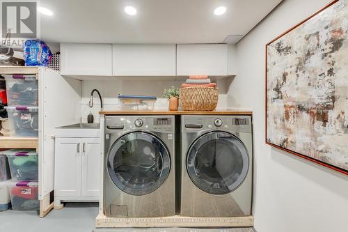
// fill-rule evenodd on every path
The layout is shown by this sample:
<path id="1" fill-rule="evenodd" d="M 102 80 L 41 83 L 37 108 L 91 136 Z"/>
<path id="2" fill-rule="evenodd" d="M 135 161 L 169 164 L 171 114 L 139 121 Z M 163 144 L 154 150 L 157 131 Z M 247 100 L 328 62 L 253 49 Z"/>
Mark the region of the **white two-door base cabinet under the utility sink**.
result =
<path id="1" fill-rule="evenodd" d="M 58 137 L 55 150 L 54 206 L 59 208 L 61 201 L 98 201 L 100 137 Z"/>

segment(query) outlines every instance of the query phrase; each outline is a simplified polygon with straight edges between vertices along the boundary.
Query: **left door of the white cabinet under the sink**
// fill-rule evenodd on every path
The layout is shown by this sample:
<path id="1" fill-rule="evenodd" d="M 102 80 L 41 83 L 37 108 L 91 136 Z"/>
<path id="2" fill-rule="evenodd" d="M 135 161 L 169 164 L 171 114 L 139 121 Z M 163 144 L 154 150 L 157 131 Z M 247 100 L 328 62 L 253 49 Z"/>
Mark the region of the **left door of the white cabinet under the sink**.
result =
<path id="1" fill-rule="evenodd" d="M 81 195 L 81 139 L 56 138 L 54 194 Z"/>

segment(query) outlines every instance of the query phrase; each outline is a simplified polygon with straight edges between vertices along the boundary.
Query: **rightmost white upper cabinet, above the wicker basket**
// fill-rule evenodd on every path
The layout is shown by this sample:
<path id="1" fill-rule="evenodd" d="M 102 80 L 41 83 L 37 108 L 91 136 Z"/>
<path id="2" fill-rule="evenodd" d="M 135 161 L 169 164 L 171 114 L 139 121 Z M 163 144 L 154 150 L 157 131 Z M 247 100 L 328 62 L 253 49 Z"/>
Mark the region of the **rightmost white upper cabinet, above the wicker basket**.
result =
<path id="1" fill-rule="evenodd" d="M 177 45 L 177 75 L 228 75 L 228 45 Z"/>

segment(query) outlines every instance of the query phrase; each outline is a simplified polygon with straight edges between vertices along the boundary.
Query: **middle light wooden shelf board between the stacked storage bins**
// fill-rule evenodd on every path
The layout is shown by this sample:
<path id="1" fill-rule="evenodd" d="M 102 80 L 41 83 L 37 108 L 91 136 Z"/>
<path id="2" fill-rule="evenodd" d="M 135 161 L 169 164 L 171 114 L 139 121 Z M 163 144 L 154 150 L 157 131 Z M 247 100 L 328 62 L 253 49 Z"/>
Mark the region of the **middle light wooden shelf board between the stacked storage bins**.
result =
<path id="1" fill-rule="evenodd" d="M 38 148 L 37 137 L 0 137 L 0 148 Z"/>

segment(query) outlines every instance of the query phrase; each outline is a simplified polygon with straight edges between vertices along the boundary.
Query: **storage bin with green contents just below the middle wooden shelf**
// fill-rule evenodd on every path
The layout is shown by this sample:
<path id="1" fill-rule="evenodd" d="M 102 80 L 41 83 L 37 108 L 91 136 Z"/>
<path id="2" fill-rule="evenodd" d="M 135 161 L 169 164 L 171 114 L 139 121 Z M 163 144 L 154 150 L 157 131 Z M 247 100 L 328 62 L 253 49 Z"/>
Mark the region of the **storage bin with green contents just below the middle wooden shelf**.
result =
<path id="1" fill-rule="evenodd" d="M 10 149 L 3 153 L 8 157 L 11 180 L 38 181 L 38 153 L 33 149 Z"/>

